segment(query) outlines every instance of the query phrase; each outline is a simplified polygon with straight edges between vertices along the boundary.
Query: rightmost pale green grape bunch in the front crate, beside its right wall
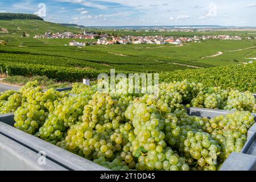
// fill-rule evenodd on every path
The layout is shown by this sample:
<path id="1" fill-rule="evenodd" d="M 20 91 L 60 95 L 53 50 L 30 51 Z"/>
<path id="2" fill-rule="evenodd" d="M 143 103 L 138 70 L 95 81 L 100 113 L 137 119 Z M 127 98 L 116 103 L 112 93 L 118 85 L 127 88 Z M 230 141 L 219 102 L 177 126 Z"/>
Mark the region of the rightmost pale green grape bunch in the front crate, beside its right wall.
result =
<path id="1" fill-rule="evenodd" d="M 249 111 L 235 111 L 220 115 L 205 122 L 204 130 L 220 142 L 222 162 L 231 152 L 240 152 L 246 142 L 247 130 L 254 124 L 254 116 Z"/>

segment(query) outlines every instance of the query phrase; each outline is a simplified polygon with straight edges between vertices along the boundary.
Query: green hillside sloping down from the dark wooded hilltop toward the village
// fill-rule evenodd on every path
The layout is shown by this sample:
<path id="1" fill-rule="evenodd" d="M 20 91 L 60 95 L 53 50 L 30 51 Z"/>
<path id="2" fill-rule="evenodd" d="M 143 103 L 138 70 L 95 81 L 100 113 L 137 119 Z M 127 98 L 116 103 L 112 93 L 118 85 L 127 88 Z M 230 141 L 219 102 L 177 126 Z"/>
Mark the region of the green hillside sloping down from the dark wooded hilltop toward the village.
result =
<path id="1" fill-rule="evenodd" d="M 0 20 L 0 39 L 17 38 L 22 36 L 23 32 L 33 37 L 36 34 L 44 34 L 45 32 L 81 32 L 78 28 L 61 26 L 57 23 L 46 22 L 43 20 Z"/>

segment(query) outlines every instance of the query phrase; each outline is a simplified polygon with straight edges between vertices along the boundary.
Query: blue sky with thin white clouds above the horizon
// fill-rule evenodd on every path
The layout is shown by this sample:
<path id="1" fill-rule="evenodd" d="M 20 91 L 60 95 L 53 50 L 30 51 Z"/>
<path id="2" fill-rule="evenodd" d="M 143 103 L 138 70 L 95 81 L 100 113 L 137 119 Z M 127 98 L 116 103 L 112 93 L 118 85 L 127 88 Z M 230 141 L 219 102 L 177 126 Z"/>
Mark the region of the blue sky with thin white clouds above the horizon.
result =
<path id="1" fill-rule="evenodd" d="M 39 3 L 45 20 L 84 26 L 256 26 L 255 0 L 0 0 L 0 13 L 34 14 Z"/>

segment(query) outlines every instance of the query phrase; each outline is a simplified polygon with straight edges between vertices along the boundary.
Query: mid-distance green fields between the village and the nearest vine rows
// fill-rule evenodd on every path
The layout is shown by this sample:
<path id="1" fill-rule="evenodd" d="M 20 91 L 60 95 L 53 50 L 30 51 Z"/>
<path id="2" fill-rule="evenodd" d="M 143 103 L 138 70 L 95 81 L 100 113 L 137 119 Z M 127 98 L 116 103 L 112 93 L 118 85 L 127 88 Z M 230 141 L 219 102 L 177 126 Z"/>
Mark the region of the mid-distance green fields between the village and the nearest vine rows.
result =
<path id="1" fill-rule="evenodd" d="M 1 60 L 19 63 L 55 60 L 52 64 L 57 65 L 59 62 L 56 60 L 59 59 L 60 64 L 63 64 L 64 57 L 64 60 L 81 67 L 90 67 L 89 63 L 93 63 L 102 68 L 131 72 L 216 67 L 248 62 L 250 59 L 246 58 L 256 57 L 255 40 L 209 40 L 184 46 L 137 44 L 71 47 L 64 44 L 72 39 L 5 38 L 8 39 L 7 46 L 0 48 Z M 213 56 L 218 52 L 222 54 Z"/>

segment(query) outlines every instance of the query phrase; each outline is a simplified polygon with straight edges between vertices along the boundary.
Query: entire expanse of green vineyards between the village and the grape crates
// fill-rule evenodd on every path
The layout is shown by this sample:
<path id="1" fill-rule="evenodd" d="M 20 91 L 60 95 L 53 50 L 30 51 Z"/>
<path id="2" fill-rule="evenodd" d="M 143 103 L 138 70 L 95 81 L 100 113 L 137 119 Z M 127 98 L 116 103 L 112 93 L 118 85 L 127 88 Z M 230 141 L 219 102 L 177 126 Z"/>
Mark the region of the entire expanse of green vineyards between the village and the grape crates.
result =
<path id="1" fill-rule="evenodd" d="M 179 47 L 63 46 L 68 41 L 8 38 L 7 46 L 0 46 L 2 73 L 81 81 L 82 78 L 94 80 L 99 73 L 109 73 L 114 68 L 116 73 L 157 72 L 161 81 L 188 79 L 207 86 L 255 92 L 255 64 L 242 64 L 256 56 L 254 40 L 209 40 Z M 223 54 L 207 57 L 218 51 Z"/>

